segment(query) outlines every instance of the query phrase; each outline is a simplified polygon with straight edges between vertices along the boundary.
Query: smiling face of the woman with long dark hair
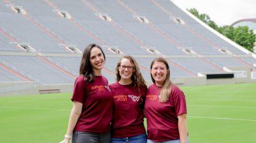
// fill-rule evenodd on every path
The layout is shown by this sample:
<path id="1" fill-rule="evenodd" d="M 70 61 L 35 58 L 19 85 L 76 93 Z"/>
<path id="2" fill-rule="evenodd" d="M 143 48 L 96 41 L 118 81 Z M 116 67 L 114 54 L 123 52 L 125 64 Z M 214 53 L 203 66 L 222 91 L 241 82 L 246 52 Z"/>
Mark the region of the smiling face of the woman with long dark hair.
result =
<path id="1" fill-rule="evenodd" d="M 102 70 L 105 64 L 104 56 L 98 47 L 93 47 L 90 53 L 90 63 L 93 70 Z"/>

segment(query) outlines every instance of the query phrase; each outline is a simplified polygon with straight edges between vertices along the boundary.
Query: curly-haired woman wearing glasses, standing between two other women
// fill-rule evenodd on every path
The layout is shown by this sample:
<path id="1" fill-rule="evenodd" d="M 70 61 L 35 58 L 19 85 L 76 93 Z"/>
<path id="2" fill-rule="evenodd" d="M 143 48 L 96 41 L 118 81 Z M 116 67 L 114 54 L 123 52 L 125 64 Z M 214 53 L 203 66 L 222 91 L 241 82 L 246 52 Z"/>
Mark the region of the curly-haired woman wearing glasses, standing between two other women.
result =
<path id="1" fill-rule="evenodd" d="M 146 143 L 143 101 L 147 86 L 132 56 L 122 57 L 116 65 L 116 82 L 111 84 L 114 110 L 112 143 Z"/>

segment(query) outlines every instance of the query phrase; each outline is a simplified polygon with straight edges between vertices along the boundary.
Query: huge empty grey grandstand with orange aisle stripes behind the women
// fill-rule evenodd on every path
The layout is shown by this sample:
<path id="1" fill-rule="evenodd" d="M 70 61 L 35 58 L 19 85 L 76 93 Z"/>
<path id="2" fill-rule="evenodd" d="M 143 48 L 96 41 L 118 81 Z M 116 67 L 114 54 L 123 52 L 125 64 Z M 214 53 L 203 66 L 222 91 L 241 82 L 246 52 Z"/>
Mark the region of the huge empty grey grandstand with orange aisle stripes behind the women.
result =
<path id="1" fill-rule="evenodd" d="M 167 0 L 0 1 L 0 19 L 0 82 L 73 84 L 89 43 L 104 50 L 109 83 L 125 54 L 148 82 L 157 56 L 168 59 L 173 79 L 256 64 L 252 52 Z"/>

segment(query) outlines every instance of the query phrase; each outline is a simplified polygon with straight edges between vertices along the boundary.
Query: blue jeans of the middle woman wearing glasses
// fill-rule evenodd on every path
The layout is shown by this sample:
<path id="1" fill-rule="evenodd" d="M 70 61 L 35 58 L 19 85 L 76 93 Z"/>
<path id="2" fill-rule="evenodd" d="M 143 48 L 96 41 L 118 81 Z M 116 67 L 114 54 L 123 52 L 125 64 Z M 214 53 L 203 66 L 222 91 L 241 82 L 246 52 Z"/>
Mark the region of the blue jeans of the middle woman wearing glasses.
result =
<path id="1" fill-rule="evenodd" d="M 135 137 L 111 138 L 111 143 L 147 143 L 147 135 L 137 135 Z"/>

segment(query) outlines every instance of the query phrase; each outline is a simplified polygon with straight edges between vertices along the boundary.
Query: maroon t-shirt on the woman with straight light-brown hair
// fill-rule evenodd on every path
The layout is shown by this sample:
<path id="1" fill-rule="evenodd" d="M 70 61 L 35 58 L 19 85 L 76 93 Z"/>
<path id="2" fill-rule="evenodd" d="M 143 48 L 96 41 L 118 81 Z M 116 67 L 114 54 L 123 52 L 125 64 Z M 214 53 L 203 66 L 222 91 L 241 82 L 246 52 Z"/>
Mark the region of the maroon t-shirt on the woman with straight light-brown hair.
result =
<path id="1" fill-rule="evenodd" d="M 155 142 L 180 139 L 177 116 L 187 113 L 184 93 L 173 86 L 168 101 L 160 103 L 160 92 L 161 87 L 156 84 L 148 87 L 145 101 L 148 139 Z"/>

